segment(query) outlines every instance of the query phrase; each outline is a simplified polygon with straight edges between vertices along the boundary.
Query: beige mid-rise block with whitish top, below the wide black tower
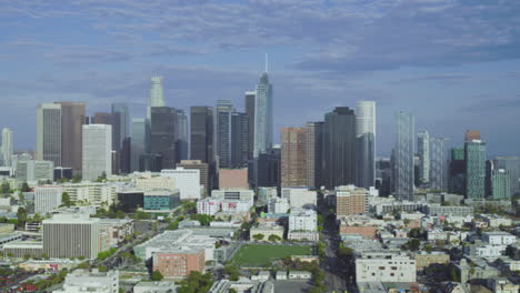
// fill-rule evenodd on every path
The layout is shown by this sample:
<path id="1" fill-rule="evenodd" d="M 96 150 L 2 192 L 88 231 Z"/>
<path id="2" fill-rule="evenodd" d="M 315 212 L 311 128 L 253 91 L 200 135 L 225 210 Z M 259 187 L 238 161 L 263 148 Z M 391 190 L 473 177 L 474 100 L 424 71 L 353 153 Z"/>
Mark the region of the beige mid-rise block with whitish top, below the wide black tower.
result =
<path id="1" fill-rule="evenodd" d="M 353 185 L 336 188 L 336 214 L 338 218 L 367 212 L 367 190 Z"/>

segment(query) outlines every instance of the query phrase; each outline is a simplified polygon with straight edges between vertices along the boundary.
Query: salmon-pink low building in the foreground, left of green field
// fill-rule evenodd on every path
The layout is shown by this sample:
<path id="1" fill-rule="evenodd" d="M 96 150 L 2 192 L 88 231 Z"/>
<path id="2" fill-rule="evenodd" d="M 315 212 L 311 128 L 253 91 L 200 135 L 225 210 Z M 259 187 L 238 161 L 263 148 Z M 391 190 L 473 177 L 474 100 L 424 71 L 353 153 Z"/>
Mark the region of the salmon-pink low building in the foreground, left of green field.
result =
<path id="1" fill-rule="evenodd" d="M 191 272 L 204 272 L 204 250 L 178 250 L 153 254 L 153 272 L 159 271 L 166 279 L 183 279 Z"/>

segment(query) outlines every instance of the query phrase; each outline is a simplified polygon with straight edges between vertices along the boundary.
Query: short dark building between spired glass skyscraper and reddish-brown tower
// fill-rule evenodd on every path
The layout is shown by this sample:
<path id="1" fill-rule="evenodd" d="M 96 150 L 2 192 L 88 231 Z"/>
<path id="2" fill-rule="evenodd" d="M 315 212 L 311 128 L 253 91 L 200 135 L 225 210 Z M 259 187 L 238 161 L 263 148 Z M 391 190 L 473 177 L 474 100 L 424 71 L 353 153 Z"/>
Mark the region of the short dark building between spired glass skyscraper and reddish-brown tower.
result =
<path id="1" fill-rule="evenodd" d="M 257 188 L 280 188 L 281 182 L 281 150 L 273 145 L 267 153 L 254 158 L 253 181 Z"/>

